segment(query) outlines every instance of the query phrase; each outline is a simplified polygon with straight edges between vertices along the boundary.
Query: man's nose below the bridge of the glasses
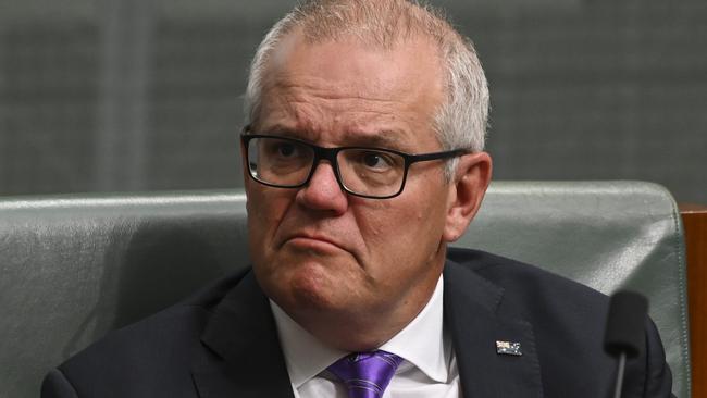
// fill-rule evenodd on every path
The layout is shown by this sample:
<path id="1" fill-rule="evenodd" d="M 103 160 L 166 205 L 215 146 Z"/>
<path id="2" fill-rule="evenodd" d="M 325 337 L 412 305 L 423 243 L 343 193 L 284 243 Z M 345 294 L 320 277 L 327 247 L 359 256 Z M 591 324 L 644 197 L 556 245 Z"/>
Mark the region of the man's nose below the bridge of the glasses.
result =
<path id="1" fill-rule="evenodd" d="M 348 197 L 336 181 L 333 165 L 326 161 L 314 167 L 314 174 L 307 186 L 299 189 L 296 200 L 306 208 L 332 211 L 336 215 L 348 208 Z"/>

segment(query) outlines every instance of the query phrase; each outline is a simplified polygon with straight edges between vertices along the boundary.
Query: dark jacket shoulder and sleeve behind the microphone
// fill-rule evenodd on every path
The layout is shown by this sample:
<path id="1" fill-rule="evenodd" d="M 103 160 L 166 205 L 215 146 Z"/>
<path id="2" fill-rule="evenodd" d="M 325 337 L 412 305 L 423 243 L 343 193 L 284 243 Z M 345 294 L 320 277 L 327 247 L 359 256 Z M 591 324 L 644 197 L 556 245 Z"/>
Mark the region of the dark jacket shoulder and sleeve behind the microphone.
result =
<path id="1" fill-rule="evenodd" d="M 499 315 L 532 325 L 547 397 L 582 396 L 596 388 L 593 375 L 616 374 L 604 351 L 609 298 L 585 285 L 520 261 L 468 249 L 450 249 L 454 268 L 473 272 L 503 290 Z M 596 378 L 596 377 L 595 377 Z M 655 324 L 646 319 L 645 349 L 627 362 L 624 396 L 669 397 L 671 373 Z M 568 394 L 568 391 L 575 391 Z"/>

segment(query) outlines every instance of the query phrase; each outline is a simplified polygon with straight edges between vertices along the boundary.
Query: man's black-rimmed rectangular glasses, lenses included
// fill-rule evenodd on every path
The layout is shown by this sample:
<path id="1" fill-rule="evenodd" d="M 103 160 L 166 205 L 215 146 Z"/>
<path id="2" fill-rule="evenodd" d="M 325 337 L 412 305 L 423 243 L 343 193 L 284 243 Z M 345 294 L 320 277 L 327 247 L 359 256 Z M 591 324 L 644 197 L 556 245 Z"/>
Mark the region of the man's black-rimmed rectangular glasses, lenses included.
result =
<path id="1" fill-rule="evenodd" d="M 332 164 L 343 190 L 370 199 L 400 195 L 412 163 L 470 153 L 467 149 L 409 154 L 383 148 L 324 148 L 295 138 L 260 134 L 243 134 L 240 138 L 246 149 L 248 174 L 260 184 L 277 188 L 302 187 L 324 159 Z"/>

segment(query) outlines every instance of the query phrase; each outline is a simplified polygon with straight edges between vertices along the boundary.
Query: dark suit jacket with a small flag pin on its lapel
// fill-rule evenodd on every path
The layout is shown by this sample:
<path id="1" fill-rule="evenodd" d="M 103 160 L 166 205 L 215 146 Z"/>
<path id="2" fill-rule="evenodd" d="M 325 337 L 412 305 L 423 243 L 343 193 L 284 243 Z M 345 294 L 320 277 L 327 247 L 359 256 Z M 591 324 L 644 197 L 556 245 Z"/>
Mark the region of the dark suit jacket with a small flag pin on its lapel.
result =
<path id="1" fill-rule="evenodd" d="M 444 313 L 461 388 L 473 397 L 608 397 L 616 362 L 603 351 L 608 299 L 536 268 L 450 249 Z M 647 320 L 624 397 L 669 397 L 671 374 Z M 522 356 L 498 355 L 496 340 Z M 266 297 L 251 272 L 120 329 L 53 370 L 42 397 L 293 397 Z"/>

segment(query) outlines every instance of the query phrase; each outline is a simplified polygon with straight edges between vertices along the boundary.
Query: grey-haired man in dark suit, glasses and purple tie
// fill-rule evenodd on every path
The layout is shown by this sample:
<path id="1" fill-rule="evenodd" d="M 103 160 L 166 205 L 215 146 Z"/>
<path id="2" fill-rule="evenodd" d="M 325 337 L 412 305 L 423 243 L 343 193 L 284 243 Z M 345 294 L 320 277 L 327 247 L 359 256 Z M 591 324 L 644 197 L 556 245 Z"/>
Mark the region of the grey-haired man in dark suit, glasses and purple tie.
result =
<path id="1" fill-rule="evenodd" d="M 253 60 L 252 272 L 116 332 L 45 397 L 601 397 L 607 299 L 447 250 L 491 178 L 469 41 L 402 0 L 311 1 Z M 668 397 L 655 327 L 627 397 Z"/>

